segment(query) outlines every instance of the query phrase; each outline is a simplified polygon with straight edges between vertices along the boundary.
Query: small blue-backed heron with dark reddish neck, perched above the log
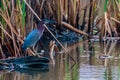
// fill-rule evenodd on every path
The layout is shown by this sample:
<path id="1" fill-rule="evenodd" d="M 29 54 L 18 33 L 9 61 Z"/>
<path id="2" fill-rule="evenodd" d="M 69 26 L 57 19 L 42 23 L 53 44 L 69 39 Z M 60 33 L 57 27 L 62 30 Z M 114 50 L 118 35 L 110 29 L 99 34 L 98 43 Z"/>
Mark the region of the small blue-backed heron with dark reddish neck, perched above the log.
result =
<path id="1" fill-rule="evenodd" d="M 37 29 L 34 29 L 27 35 L 27 37 L 22 45 L 22 50 L 25 51 L 27 48 L 33 47 L 33 50 L 35 52 L 34 47 L 35 47 L 36 43 L 40 40 L 41 36 L 43 35 L 44 29 L 45 29 L 44 24 L 45 24 L 44 21 L 40 21 L 37 24 Z"/>

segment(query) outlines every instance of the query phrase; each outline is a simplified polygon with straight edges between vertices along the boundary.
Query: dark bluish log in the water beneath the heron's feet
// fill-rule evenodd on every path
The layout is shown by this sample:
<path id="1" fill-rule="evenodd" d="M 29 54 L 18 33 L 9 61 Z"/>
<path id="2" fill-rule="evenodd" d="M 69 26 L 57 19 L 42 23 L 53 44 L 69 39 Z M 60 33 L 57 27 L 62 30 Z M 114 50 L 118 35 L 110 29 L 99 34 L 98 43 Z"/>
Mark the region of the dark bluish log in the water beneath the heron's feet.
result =
<path id="1" fill-rule="evenodd" d="M 27 56 L 0 60 L 0 70 L 3 69 L 48 69 L 49 59 L 45 57 Z"/>

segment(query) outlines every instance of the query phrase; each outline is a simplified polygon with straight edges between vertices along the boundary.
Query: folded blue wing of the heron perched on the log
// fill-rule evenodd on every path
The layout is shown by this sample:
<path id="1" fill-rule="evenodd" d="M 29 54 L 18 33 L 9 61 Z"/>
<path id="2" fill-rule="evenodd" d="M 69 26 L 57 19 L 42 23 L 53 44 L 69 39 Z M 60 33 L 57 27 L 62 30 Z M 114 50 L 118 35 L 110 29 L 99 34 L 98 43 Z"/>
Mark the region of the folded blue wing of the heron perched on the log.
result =
<path id="1" fill-rule="evenodd" d="M 36 29 L 33 30 L 26 37 L 22 47 L 27 48 L 27 47 L 34 46 L 37 43 L 37 41 L 40 39 L 40 37 L 41 37 L 40 32 L 38 30 L 36 30 Z"/>

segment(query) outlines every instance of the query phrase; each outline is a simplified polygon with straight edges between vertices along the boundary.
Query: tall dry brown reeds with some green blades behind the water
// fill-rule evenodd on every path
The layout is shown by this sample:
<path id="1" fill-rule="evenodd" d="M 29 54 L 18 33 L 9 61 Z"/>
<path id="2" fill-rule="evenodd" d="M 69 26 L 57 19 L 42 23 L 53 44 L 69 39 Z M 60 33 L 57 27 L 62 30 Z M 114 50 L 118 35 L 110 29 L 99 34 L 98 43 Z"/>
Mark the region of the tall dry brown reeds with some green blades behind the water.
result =
<path id="1" fill-rule="evenodd" d="M 101 39 L 120 35 L 119 0 L 105 0 L 102 15 L 99 15 L 99 10 L 103 0 L 87 0 L 84 5 L 84 0 L 26 1 L 39 18 L 57 21 L 55 28 L 59 31 L 65 26 L 72 26 L 75 32 L 98 35 Z M 24 0 L 0 0 L 0 58 L 23 55 L 21 45 L 26 35 L 35 28 L 34 17 Z M 28 53 L 33 55 L 31 50 Z"/>

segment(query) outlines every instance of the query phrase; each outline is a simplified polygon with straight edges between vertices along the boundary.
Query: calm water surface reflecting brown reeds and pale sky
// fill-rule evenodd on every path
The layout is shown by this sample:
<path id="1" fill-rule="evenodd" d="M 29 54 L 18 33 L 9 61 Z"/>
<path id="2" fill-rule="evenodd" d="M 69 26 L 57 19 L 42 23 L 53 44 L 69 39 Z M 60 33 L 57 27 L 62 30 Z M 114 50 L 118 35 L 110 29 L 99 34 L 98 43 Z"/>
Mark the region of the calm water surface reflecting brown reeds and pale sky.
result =
<path id="1" fill-rule="evenodd" d="M 89 45 L 88 45 L 89 44 Z M 65 44 L 69 54 L 57 54 L 49 70 L 1 71 L 0 80 L 119 80 L 119 43 L 116 41 Z"/>

